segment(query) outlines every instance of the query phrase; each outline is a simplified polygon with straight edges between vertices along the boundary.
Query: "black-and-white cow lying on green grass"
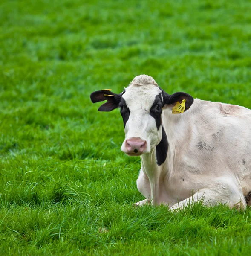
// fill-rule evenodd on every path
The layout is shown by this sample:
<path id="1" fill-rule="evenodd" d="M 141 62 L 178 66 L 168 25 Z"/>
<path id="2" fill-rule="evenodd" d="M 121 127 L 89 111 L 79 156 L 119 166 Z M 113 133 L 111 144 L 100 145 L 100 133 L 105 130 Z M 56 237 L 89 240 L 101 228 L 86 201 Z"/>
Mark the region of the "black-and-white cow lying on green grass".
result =
<path id="1" fill-rule="evenodd" d="M 251 204 L 251 110 L 211 102 L 184 92 L 169 95 L 147 75 L 136 76 L 99 111 L 120 108 L 125 139 L 121 151 L 140 156 L 137 188 L 146 199 L 136 206 L 166 204 L 184 209 L 202 201 L 245 209 Z"/>

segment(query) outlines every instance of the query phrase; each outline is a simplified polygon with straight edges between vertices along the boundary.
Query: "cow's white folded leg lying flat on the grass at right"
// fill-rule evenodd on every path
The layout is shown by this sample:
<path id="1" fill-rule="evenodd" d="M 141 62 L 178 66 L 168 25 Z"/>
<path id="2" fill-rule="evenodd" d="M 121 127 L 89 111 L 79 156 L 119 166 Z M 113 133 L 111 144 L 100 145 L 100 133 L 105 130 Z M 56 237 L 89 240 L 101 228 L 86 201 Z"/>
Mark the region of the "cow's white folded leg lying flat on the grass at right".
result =
<path id="1" fill-rule="evenodd" d="M 222 204 L 228 204 L 228 206 L 231 208 L 236 208 L 236 209 L 246 208 L 245 198 L 241 192 L 235 191 L 233 194 L 229 194 L 225 196 L 222 195 L 223 193 L 224 191 L 219 192 L 211 189 L 199 190 L 193 196 L 183 201 L 180 201 L 177 204 L 174 204 L 172 207 L 170 207 L 170 210 L 176 210 L 176 209 L 182 210 L 185 206 L 198 202 L 200 200 L 202 201 L 203 205 L 208 207 L 222 203 Z"/>

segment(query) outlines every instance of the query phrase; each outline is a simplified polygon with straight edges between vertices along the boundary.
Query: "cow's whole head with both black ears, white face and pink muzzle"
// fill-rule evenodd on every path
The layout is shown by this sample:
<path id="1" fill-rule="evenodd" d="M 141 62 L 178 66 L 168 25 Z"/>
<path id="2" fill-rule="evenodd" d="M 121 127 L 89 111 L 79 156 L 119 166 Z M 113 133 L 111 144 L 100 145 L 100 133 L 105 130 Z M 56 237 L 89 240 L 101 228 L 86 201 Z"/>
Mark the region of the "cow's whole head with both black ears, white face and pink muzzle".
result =
<path id="1" fill-rule="evenodd" d="M 162 139 L 162 110 L 171 112 L 176 103 L 182 103 L 184 99 L 186 111 L 193 104 L 192 96 L 181 92 L 169 95 L 147 75 L 136 76 L 120 94 L 110 89 L 91 94 L 93 103 L 107 100 L 99 111 L 120 108 L 125 132 L 121 150 L 130 156 L 149 153 L 159 144 Z"/>

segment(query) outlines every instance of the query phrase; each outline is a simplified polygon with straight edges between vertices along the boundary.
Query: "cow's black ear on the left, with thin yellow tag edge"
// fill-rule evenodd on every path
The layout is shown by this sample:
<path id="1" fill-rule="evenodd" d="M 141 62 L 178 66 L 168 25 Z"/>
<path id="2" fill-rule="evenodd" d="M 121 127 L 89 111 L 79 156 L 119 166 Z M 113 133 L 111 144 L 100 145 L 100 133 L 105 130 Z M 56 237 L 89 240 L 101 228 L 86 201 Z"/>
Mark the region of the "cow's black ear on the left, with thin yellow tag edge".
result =
<path id="1" fill-rule="evenodd" d="M 93 92 L 90 95 L 90 97 L 91 97 L 92 103 L 107 100 L 106 103 L 104 103 L 98 108 L 98 111 L 112 111 L 113 109 L 118 108 L 118 104 L 120 102 L 120 99 L 123 93 L 116 94 L 111 92 L 110 89 L 99 90 L 99 91 Z"/>

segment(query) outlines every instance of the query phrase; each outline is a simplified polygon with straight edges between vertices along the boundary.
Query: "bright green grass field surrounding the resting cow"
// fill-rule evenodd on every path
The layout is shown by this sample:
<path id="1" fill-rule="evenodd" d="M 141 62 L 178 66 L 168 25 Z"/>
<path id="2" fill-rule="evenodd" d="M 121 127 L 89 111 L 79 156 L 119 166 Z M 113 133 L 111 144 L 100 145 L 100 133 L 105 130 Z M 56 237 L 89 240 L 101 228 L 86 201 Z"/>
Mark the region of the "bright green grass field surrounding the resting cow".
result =
<path id="1" fill-rule="evenodd" d="M 0 255 L 250 255 L 251 209 L 132 207 L 140 159 L 89 94 L 139 74 L 251 108 L 251 1 L 0 2 Z"/>

